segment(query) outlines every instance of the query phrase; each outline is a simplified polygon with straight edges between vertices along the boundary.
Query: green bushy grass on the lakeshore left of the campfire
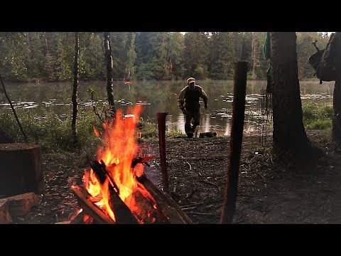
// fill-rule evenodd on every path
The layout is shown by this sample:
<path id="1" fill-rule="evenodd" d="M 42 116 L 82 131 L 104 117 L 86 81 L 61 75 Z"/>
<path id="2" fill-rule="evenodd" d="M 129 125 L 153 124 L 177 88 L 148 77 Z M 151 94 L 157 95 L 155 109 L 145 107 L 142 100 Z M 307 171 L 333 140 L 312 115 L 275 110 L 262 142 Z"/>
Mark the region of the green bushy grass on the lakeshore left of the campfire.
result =
<path id="1" fill-rule="evenodd" d="M 78 144 L 73 144 L 72 139 L 72 114 L 61 119 L 53 112 L 45 113 L 45 117 L 38 117 L 36 114 L 23 113 L 17 110 L 18 117 L 28 142 L 39 144 L 44 151 L 77 151 L 80 148 L 87 148 L 99 144 L 95 137 L 93 127 L 99 125 L 99 120 L 91 111 L 79 112 L 77 122 Z M 23 142 L 23 137 L 13 117 L 13 113 L 4 112 L 0 114 L 0 125 L 6 127 L 16 142 Z"/>

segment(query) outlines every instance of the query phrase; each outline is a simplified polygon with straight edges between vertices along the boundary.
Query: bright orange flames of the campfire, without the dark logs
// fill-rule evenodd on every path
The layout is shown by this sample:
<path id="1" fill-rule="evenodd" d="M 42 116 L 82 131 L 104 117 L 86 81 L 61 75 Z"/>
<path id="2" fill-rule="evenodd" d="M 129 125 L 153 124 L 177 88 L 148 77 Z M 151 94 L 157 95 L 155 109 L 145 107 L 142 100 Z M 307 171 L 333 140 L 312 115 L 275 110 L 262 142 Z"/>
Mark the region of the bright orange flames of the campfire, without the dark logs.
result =
<path id="1" fill-rule="evenodd" d="M 103 124 L 104 133 L 99 134 L 97 129 L 94 129 L 96 136 L 101 136 L 104 144 L 97 149 L 97 161 L 105 166 L 107 174 L 111 177 L 106 178 L 101 182 L 97 179 L 98 176 L 92 169 L 85 170 L 83 183 L 90 195 L 91 200 L 101 208 L 112 220 L 115 220 L 115 215 L 109 205 L 110 193 L 109 186 L 112 186 L 114 181 L 119 191 L 119 198 L 131 210 L 139 223 L 144 223 L 144 218 L 148 218 L 148 222 L 153 222 L 155 216 L 159 213 L 153 213 L 156 209 L 156 201 L 144 186 L 136 180 L 136 176 L 140 177 L 144 173 L 144 165 L 142 163 L 152 159 L 153 156 L 140 156 L 136 162 L 136 155 L 139 151 L 139 145 L 136 143 L 138 137 L 135 134 L 136 124 L 143 110 L 143 105 L 128 108 L 127 114 L 124 115 L 121 110 L 117 110 L 116 118 L 112 122 Z M 135 136 L 136 135 L 136 136 Z M 136 137 L 136 138 L 135 138 Z M 94 166 L 92 166 L 94 168 Z M 144 198 L 151 204 L 151 209 L 148 213 L 141 213 L 139 204 L 136 198 Z"/>

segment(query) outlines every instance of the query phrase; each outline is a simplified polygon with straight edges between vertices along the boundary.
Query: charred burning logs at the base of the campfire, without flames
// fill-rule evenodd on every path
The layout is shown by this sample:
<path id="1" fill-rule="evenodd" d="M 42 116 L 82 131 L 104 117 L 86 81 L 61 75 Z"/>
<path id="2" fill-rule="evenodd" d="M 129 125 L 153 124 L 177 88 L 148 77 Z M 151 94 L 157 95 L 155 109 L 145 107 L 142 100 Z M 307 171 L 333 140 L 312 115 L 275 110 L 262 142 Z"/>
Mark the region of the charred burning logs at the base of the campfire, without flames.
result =
<path id="1" fill-rule="evenodd" d="M 140 163 L 141 159 L 144 159 L 142 162 L 146 163 L 146 158 L 139 158 Z M 139 186 L 134 193 L 131 193 L 125 199 L 126 203 L 134 205 L 134 208 L 131 210 L 119 197 L 119 188 L 117 188 L 116 183 L 107 171 L 105 164 L 103 162 L 90 161 L 90 166 L 100 183 L 103 184 L 107 179 L 109 180 L 109 206 L 114 213 L 115 221 L 92 203 L 90 200 L 91 196 L 85 188 L 74 186 L 72 191 L 77 196 L 83 211 L 91 215 L 97 223 L 193 223 L 175 201 L 161 192 L 145 175 L 141 177 L 136 176 Z M 144 191 L 148 191 L 151 196 L 144 195 Z"/>

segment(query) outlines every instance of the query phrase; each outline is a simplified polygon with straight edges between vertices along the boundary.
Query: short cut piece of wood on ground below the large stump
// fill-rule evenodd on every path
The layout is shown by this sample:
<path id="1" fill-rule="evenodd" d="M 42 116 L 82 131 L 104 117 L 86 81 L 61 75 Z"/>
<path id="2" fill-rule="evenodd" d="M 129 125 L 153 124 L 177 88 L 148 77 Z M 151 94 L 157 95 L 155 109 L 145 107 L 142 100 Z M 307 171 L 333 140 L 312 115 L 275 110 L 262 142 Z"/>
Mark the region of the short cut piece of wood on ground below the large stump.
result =
<path id="1" fill-rule="evenodd" d="M 39 204 L 39 198 L 33 192 L 11 196 L 6 199 L 9 201 L 9 214 L 11 217 L 26 215 L 33 206 L 38 206 Z"/>

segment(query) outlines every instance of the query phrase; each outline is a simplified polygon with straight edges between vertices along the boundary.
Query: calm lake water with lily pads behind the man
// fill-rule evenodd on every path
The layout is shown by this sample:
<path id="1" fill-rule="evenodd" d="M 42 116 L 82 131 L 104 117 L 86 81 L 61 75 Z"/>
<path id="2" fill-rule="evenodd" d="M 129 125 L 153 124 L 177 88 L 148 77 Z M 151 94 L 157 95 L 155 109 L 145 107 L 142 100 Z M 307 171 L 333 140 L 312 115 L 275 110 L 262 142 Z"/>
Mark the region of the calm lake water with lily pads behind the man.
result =
<path id="1" fill-rule="evenodd" d="M 199 132 L 217 132 L 218 136 L 229 136 L 232 119 L 233 81 L 232 80 L 197 80 L 208 95 L 208 106 L 205 110 L 202 102 Z M 313 99 L 332 104 L 334 82 L 302 81 L 302 101 Z M 142 117 L 156 123 L 157 112 L 168 112 L 166 130 L 185 133 L 183 113 L 178 109 L 178 93 L 185 86 L 184 81 L 131 81 L 125 85 L 122 81 L 114 82 L 114 98 L 117 108 L 125 111 L 129 105 L 144 105 Z M 266 81 L 248 81 L 245 107 L 244 133 L 258 132 L 261 107 L 261 90 L 265 89 Z M 90 108 L 94 102 L 88 89 L 94 90 L 94 101 L 101 107 L 107 104 L 105 82 L 80 82 L 78 99 L 80 108 Z M 25 112 L 35 112 L 45 117 L 54 112 L 59 117 L 72 114 L 72 83 L 59 82 L 48 84 L 6 83 L 6 90 L 16 108 Z M 4 94 L 0 94 L 0 111 L 11 109 Z"/>

